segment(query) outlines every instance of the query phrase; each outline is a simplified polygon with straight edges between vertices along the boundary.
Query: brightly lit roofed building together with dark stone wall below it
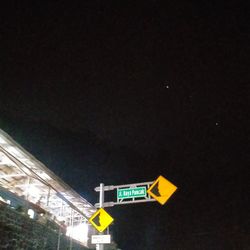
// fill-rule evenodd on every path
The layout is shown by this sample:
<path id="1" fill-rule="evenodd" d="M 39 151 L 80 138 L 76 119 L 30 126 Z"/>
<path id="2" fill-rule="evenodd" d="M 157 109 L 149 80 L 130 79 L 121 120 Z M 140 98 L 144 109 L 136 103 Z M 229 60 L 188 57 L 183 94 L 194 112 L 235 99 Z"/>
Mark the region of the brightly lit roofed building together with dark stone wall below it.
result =
<path id="1" fill-rule="evenodd" d="M 13 244 L 21 244 L 21 236 L 16 238 L 12 233 L 18 235 L 23 226 L 29 228 L 27 233 L 24 232 L 24 237 L 27 241 L 33 242 L 27 243 L 28 245 L 38 244 L 34 242 L 44 236 L 46 241 L 53 243 L 51 249 L 57 249 L 55 244 L 58 245 L 58 239 L 63 243 L 68 242 L 70 238 L 71 244 L 76 240 L 79 246 L 89 247 L 91 234 L 95 233 L 93 230 L 88 230 L 88 218 L 96 208 L 2 130 L 0 130 L 0 205 L 0 235 L 5 241 L 7 238 L 12 238 L 13 242 L 16 239 Z M 63 243 L 63 245 L 68 244 Z M 47 245 L 47 248 L 42 248 L 41 245 L 34 247 L 35 245 L 32 245 L 20 249 L 50 249 Z M 58 249 L 64 248 L 60 246 Z"/>

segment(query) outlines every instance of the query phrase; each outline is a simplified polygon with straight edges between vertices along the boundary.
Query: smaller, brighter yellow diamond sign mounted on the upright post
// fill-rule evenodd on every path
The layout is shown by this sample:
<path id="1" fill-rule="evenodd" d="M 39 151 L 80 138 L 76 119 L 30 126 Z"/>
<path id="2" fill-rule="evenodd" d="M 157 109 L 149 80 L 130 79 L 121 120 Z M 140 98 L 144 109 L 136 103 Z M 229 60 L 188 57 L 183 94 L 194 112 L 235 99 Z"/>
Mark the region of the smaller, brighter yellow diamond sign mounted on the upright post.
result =
<path id="1" fill-rule="evenodd" d="M 89 222 L 99 231 L 103 232 L 112 222 L 113 218 L 103 209 L 97 210 L 89 219 Z"/>

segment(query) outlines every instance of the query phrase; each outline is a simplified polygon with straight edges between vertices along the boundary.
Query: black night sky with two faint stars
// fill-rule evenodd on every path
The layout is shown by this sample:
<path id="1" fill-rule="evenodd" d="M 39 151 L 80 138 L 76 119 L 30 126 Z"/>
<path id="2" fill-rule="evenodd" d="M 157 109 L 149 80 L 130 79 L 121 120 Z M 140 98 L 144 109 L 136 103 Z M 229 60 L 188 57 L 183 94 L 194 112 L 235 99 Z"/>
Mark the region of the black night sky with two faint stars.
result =
<path id="1" fill-rule="evenodd" d="M 247 249 L 247 7 L 6 1 L 1 127 L 93 203 L 100 182 L 178 186 L 108 209 L 123 250 Z"/>

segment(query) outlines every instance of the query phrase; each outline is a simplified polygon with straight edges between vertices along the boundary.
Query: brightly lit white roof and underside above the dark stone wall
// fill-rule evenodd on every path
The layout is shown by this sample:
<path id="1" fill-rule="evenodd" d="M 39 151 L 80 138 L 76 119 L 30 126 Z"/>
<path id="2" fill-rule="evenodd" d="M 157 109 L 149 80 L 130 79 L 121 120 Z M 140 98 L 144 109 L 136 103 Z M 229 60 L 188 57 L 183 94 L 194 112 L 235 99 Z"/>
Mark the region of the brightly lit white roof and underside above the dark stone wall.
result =
<path id="1" fill-rule="evenodd" d="M 3 190 L 18 196 L 31 218 L 49 216 L 58 225 L 65 225 L 68 236 L 87 246 L 87 219 L 95 207 L 2 130 L 0 187 L 0 198 L 10 207 L 15 204 L 3 197 Z"/>

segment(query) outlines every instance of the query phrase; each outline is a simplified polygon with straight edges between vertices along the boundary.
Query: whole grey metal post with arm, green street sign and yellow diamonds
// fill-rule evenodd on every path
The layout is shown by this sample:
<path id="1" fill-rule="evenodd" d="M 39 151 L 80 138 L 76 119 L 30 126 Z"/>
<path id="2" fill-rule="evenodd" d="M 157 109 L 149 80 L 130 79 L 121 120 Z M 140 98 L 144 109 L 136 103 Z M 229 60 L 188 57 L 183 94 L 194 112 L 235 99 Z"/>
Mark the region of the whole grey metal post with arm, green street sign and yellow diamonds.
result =
<path id="1" fill-rule="evenodd" d="M 104 192 L 113 190 L 117 192 L 116 202 L 104 202 Z M 100 209 L 89 219 L 89 222 L 99 231 L 99 235 L 95 235 L 92 239 L 96 243 L 96 250 L 104 250 L 103 244 L 111 242 L 109 233 L 104 235 L 103 231 L 114 219 L 103 209 L 104 207 L 152 201 L 158 201 L 161 205 L 164 205 L 176 190 L 177 187 L 161 175 L 155 181 L 142 183 L 117 186 L 104 186 L 101 183 L 99 187 L 95 188 L 95 191 L 99 192 L 99 203 L 96 203 L 95 207 Z"/>

